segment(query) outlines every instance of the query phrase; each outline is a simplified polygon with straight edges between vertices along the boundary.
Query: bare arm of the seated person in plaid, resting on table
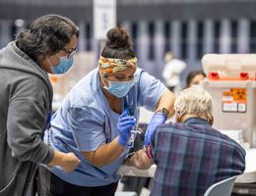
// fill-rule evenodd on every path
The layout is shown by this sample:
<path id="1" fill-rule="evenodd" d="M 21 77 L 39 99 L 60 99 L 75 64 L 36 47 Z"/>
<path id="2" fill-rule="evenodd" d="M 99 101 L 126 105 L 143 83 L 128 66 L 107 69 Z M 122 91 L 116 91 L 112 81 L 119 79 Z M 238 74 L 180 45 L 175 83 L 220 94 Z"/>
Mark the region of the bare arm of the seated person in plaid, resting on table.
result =
<path id="1" fill-rule="evenodd" d="M 145 149 L 141 149 L 136 153 L 133 153 L 132 155 L 128 156 L 124 161 L 124 165 L 134 166 L 140 170 L 147 170 L 151 168 L 153 164 L 153 160 L 148 157 Z"/>

